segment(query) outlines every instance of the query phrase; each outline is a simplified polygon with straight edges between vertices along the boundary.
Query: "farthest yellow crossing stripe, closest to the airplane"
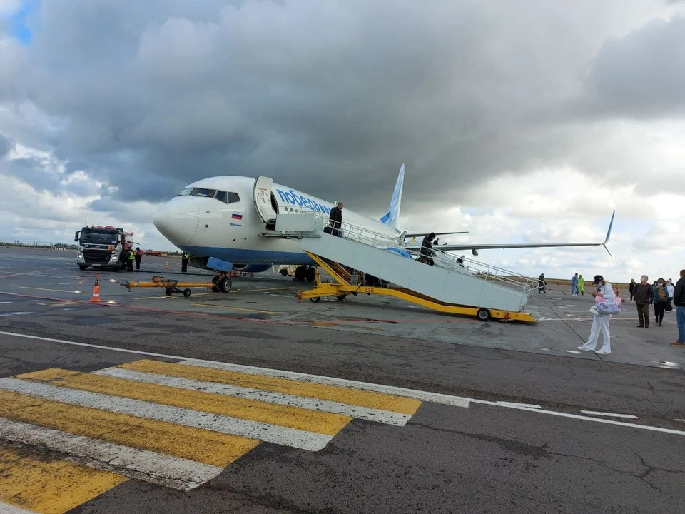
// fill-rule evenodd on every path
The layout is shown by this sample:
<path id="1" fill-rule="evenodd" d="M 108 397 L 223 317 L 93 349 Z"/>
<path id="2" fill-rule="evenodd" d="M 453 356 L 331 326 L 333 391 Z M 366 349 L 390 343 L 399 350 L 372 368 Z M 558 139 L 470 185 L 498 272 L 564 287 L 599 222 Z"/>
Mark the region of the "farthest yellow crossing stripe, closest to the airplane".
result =
<path id="1" fill-rule="evenodd" d="M 414 414 L 421 405 L 420 400 L 414 400 L 413 398 L 372 393 L 370 391 L 350 389 L 338 385 L 300 382 L 287 378 L 272 378 L 251 375 L 249 373 L 238 373 L 236 371 L 187 366 L 185 364 L 143 360 L 122 364 L 117 367 L 181 378 L 193 378 L 201 381 L 239 385 L 241 387 L 253 389 L 270 390 L 275 393 L 319 398 L 320 400 L 330 400 L 347 403 L 347 405 L 360 405 L 362 407 L 390 410 L 402 414 Z"/>

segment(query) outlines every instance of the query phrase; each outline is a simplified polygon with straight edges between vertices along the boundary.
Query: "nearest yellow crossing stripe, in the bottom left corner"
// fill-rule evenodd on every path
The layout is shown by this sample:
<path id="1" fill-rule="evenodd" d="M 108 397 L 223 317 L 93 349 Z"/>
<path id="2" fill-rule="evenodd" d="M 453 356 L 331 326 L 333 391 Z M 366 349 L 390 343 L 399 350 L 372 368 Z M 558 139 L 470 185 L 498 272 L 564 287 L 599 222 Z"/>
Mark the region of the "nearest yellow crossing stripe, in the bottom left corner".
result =
<path id="1" fill-rule="evenodd" d="M 128 478 L 0 445 L 0 500 L 42 514 L 64 514 Z"/>

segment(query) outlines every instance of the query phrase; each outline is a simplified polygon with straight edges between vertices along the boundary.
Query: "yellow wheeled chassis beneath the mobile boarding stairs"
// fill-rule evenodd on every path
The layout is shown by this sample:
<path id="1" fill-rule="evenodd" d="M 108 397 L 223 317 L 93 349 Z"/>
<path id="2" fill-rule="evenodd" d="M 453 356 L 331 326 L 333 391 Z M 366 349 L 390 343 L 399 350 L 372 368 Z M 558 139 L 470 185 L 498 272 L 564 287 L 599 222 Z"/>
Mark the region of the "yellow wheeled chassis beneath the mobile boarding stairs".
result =
<path id="1" fill-rule="evenodd" d="M 317 263 L 321 268 L 324 268 L 330 276 L 332 276 L 336 283 L 324 283 L 321 281 L 319 271 L 316 271 L 316 286 L 310 291 L 300 291 L 298 292 L 298 300 L 303 298 L 309 298 L 313 302 L 318 302 L 323 296 L 335 296 L 342 300 L 348 294 L 365 293 L 365 294 L 377 294 L 385 296 L 394 296 L 395 298 L 400 298 L 400 300 L 408 301 L 411 303 L 416 303 L 422 307 L 430 308 L 434 311 L 439 311 L 448 314 L 462 314 L 465 316 L 476 316 L 477 318 L 486 321 L 489 318 L 502 320 L 502 321 L 524 321 L 527 323 L 534 323 L 535 318 L 529 312 L 520 311 L 499 311 L 497 309 L 487 309 L 472 306 L 458 306 L 452 303 L 442 303 L 436 301 L 433 298 L 428 298 L 427 296 L 420 295 L 409 289 L 401 288 L 378 288 L 371 286 L 357 286 L 350 284 L 345 280 L 345 276 L 342 268 L 338 263 L 330 263 L 329 261 L 314 255 L 313 253 L 307 252 L 315 263 Z M 345 271 L 346 273 L 346 271 Z"/>

